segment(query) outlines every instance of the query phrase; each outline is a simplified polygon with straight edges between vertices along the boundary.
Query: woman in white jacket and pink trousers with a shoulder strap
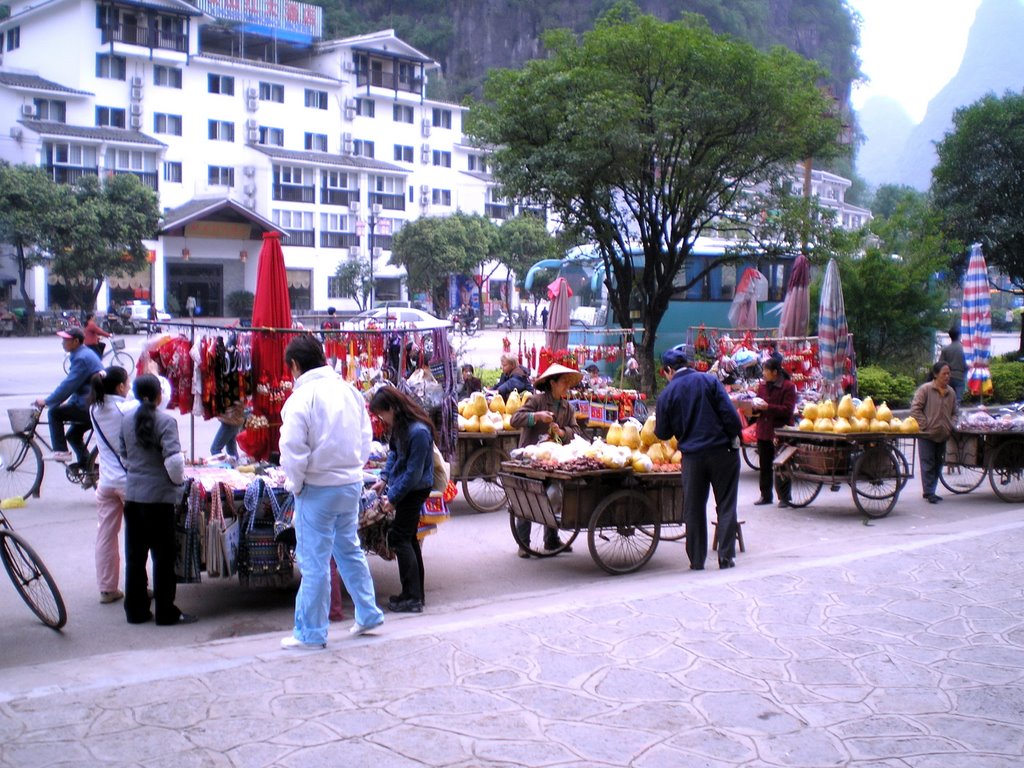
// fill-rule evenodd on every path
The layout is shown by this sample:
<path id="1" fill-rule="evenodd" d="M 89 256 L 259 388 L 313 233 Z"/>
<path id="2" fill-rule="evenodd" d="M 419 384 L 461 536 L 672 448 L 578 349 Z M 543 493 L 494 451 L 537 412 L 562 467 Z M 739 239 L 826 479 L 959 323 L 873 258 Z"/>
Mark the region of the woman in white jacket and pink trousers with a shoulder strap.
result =
<path id="1" fill-rule="evenodd" d="M 125 411 L 134 408 L 127 400 L 128 372 L 112 366 L 92 377 L 89 417 L 99 452 L 99 482 L 96 485 L 96 585 L 99 602 L 113 603 L 124 597 L 118 589 L 121 553 L 118 535 L 125 511 L 125 468 L 118 456 L 121 422 Z M 130 403 L 130 404 L 129 404 Z"/>

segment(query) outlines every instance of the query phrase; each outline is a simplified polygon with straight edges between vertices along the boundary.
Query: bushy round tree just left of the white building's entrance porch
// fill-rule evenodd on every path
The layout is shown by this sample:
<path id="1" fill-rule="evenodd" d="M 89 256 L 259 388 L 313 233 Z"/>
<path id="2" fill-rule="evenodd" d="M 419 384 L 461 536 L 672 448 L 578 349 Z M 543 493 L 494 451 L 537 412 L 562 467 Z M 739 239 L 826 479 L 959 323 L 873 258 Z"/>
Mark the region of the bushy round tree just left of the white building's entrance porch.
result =
<path id="1" fill-rule="evenodd" d="M 50 234 L 50 270 L 83 308 L 96 304 L 106 278 L 126 278 L 145 265 L 143 240 L 157 236 L 157 194 L 131 174 L 104 181 L 83 176 L 69 190 Z"/>

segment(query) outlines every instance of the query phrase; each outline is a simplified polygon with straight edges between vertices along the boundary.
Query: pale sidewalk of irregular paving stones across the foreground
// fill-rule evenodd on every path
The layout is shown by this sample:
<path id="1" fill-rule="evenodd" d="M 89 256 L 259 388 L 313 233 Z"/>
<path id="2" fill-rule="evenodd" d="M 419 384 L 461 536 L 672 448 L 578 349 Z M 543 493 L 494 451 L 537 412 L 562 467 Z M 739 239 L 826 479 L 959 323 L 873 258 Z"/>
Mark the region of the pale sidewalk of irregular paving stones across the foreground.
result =
<path id="1" fill-rule="evenodd" d="M 1024 515 L 632 584 L 4 670 L 0 765 L 1021 765 Z"/>

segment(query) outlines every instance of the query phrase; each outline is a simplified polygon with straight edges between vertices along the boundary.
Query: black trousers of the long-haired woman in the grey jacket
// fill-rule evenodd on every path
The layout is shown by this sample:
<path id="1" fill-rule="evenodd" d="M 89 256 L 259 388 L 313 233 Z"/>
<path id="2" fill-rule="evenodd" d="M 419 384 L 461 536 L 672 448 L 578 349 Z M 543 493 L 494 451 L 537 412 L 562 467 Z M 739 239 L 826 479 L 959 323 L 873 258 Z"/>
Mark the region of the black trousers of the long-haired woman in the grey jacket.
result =
<path id="1" fill-rule="evenodd" d="M 153 617 L 145 573 L 145 562 L 151 555 L 157 624 L 175 624 L 181 617 L 181 611 L 174 604 L 176 550 L 174 505 L 125 502 L 125 617 L 128 624 L 142 624 Z"/>

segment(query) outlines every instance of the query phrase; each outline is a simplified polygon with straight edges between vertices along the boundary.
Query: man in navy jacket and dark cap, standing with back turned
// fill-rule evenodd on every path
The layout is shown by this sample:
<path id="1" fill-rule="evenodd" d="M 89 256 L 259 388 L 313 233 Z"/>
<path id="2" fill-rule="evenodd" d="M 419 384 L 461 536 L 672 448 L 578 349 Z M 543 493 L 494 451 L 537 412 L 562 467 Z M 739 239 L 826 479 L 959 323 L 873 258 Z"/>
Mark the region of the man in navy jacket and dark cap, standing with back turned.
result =
<path id="1" fill-rule="evenodd" d="M 682 345 L 662 355 L 672 371 L 657 397 L 654 434 L 675 436 L 683 455 L 683 514 L 691 570 L 708 557 L 708 493 L 718 512 L 718 566 L 736 564 L 736 496 L 739 489 L 739 415 L 718 377 L 689 368 Z"/>

